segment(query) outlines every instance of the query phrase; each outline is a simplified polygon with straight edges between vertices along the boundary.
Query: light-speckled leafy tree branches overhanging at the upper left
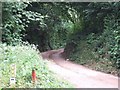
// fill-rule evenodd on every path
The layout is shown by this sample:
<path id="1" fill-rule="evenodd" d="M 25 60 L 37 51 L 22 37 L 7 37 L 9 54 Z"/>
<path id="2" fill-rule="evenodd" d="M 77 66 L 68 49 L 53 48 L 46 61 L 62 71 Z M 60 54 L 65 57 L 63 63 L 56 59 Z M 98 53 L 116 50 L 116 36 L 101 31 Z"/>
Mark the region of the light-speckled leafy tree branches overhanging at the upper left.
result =
<path id="1" fill-rule="evenodd" d="M 27 11 L 30 3 L 4 2 L 3 3 L 3 35 L 2 41 L 7 44 L 17 44 L 25 35 L 26 28 L 30 21 L 39 21 L 43 25 L 41 14 Z"/>

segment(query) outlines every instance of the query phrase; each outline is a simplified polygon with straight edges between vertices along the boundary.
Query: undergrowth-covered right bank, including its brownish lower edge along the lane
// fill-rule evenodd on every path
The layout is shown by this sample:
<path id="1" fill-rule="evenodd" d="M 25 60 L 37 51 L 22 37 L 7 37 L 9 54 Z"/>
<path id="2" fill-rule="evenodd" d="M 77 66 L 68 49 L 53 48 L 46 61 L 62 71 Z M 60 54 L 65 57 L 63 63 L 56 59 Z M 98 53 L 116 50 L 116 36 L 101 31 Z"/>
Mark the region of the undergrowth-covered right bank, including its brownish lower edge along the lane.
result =
<path id="1" fill-rule="evenodd" d="M 118 75 L 120 70 L 120 27 L 114 16 L 104 19 L 102 33 L 91 33 L 77 40 L 70 59 L 89 68 Z"/>

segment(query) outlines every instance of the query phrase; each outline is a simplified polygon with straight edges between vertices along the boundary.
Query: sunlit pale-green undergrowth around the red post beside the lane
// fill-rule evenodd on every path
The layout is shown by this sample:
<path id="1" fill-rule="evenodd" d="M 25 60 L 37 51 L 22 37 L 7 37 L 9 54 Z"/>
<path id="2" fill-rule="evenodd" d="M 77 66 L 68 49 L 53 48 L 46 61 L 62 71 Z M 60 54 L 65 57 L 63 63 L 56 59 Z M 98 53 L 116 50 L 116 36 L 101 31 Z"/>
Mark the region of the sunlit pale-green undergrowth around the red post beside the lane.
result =
<path id="1" fill-rule="evenodd" d="M 11 65 L 16 65 L 16 85 L 17 88 L 66 88 L 72 87 L 65 81 L 59 80 L 48 69 L 47 62 L 42 59 L 40 53 L 34 45 L 21 44 L 7 46 L 0 44 L 0 88 L 10 86 Z M 37 83 L 32 83 L 31 73 L 35 66 Z"/>

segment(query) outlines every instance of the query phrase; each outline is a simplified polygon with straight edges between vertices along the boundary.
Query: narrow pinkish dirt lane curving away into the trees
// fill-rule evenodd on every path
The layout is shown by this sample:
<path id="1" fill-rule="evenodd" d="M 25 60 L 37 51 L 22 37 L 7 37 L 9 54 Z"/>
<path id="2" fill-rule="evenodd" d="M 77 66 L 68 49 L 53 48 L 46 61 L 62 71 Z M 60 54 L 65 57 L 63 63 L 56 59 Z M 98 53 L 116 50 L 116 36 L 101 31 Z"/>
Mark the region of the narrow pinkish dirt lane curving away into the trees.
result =
<path id="1" fill-rule="evenodd" d="M 76 88 L 118 88 L 118 77 L 90 70 L 82 65 L 66 61 L 61 57 L 64 49 L 43 52 L 43 58 L 50 61 L 51 71 L 72 83 Z"/>

